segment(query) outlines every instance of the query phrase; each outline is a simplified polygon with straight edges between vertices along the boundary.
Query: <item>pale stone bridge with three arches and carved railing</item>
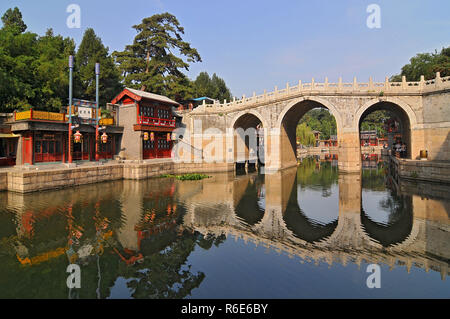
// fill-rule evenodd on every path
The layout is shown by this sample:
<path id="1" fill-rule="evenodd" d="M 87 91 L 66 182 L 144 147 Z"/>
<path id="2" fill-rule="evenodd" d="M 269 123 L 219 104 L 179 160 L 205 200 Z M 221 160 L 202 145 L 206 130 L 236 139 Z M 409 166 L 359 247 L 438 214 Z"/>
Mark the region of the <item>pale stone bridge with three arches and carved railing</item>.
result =
<path id="1" fill-rule="evenodd" d="M 251 97 L 203 104 L 183 117 L 186 145 L 201 150 L 177 151 L 180 161 L 235 163 L 242 154 L 251 159 L 254 146 L 246 140 L 249 128 L 260 128 L 264 141 L 260 157 L 266 171 L 296 165 L 295 128 L 300 118 L 317 107 L 335 117 L 338 135 L 339 169 L 361 168 L 359 127 L 362 119 L 376 110 L 389 110 L 400 119 L 407 157 L 418 159 L 427 150 L 429 159 L 450 160 L 450 77 L 436 74 L 433 80 L 406 82 L 299 83 L 283 89 L 255 93 Z M 247 132 L 247 131 L 245 131 Z M 180 143 L 181 145 L 182 143 Z M 243 148 L 238 146 L 243 144 Z M 197 154 L 197 155 L 196 155 Z M 231 166 L 230 166 L 231 167 Z"/>

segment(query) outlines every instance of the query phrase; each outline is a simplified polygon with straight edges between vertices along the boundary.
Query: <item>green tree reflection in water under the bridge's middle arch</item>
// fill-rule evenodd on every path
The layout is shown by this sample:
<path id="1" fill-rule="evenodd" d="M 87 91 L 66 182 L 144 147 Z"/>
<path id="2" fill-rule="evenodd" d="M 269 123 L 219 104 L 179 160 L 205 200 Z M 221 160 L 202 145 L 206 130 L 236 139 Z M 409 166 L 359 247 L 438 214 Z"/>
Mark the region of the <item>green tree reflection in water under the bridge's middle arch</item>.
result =
<path id="1" fill-rule="evenodd" d="M 313 157 L 302 160 L 297 169 L 297 183 L 301 189 L 322 190 L 322 196 L 331 196 L 331 186 L 338 181 L 338 171 L 330 162 L 321 162 Z"/>

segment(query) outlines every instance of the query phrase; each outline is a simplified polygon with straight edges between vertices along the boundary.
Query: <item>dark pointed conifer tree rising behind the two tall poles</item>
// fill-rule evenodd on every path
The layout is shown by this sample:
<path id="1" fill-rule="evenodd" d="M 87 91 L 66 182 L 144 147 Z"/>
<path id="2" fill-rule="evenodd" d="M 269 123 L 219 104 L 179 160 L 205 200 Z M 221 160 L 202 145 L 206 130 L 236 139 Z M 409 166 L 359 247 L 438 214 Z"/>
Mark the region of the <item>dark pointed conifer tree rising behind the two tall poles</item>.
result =
<path id="1" fill-rule="evenodd" d="M 95 63 L 100 63 L 99 100 L 100 105 L 105 105 L 122 90 L 120 74 L 108 55 L 108 48 L 89 28 L 75 56 L 75 96 L 95 101 Z"/>

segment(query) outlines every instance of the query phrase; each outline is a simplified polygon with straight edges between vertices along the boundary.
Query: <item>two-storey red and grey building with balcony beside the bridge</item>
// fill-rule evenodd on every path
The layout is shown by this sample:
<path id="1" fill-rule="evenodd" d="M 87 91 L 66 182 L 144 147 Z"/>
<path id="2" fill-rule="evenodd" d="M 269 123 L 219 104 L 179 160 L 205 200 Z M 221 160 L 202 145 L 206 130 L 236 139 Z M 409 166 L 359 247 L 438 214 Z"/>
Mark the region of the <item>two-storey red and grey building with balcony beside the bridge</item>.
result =
<path id="1" fill-rule="evenodd" d="M 124 89 L 111 103 L 117 106 L 119 124 L 124 127 L 123 158 L 171 157 L 177 117 L 174 109 L 180 107 L 179 103 L 166 96 L 130 88 Z"/>

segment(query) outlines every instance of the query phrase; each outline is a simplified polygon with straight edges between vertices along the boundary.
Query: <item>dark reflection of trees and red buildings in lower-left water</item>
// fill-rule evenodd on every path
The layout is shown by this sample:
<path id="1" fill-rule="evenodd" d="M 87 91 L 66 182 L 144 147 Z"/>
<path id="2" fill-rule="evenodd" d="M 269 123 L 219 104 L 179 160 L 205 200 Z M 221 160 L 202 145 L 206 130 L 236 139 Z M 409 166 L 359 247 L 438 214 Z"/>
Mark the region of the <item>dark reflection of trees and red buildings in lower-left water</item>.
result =
<path id="1" fill-rule="evenodd" d="M 167 202 L 161 203 L 167 207 Z M 118 238 L 124 218 L 120 203 L 109 198 L 77 201 L 69 206 L 70 213 L 68 205 L 45 214 L 32 212 L 29 228 L 22 234 L 17 234 L 14 214 L 0 214 L 5 221 L 0 226 L 1 297 L 67 298 L 70 257 L 81 267 L 82 282 L 81 289 L 72 290 L 70 297 L 108 297 L 117 278 L 125 277 L 132 297 L 183 298 L 205 277 L 201 272 L 193 273 L 186 264 L 191 252 L 197 245 L 209 249 L 224 240 L 183 229 L 180 216 L 184 209 L 172 204 L 169 212 L 156 211 L 153 224 L 143 212 L 136 228 L 136 236 L 141 236 L 140 250 L 130 251 Z M 71 248 L 72 253 L 66 256 Z M 127 263 L 139 254 L 142 260 Z"/>

